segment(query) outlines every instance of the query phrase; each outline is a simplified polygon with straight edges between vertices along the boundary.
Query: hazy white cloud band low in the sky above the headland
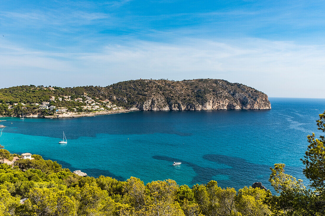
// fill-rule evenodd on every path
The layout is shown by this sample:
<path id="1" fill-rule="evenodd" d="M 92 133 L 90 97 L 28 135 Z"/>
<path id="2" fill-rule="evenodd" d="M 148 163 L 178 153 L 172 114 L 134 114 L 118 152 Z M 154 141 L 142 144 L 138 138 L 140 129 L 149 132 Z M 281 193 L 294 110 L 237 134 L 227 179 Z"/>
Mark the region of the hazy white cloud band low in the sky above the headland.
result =
<path id="1" fill-rule="evenodd" d="M 0 87 L 32 83 L 106 86 L 136 78 L 221 78 L 273 97 L 324 97 L 325 87 L 315 84 L 323 76 L 324 46 L 253 38 L 179 41 L 113 44 L 98 53 L 50 53 L 0 44 L 0 50 L 5 51 L 0 53 L 0 73 L 16 77 L 1 82 Z M 48 72 L 53 73 L 52 78 L 39 76 Z M 29 76 L 22 80 L 22 73 Z"/>

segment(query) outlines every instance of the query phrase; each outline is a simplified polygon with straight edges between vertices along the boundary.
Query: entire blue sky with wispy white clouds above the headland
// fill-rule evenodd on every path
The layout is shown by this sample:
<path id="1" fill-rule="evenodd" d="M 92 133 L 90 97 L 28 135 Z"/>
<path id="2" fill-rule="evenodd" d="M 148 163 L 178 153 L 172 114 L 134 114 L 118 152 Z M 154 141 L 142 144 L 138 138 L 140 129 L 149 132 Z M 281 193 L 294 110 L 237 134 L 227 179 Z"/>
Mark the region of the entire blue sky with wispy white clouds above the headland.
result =
<path id="1" fill-rule="evenodd" d="M 3 0 L 0 88 L 220 78 L 324 98 L 324 11 L 299 0 Z"/>

